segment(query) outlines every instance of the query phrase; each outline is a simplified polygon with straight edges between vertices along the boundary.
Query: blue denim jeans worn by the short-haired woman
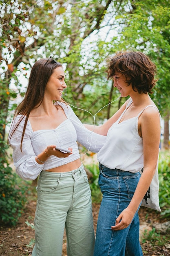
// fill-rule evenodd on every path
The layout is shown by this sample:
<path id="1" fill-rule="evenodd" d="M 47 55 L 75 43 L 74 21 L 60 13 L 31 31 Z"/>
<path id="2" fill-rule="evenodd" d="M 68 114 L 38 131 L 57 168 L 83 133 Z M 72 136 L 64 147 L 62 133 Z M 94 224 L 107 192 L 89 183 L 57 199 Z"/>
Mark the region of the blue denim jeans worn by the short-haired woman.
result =
<path id="1" fill-rule="evenodd" d="M 99 164 L 99 169 L 99 186 L 103 198 L 97 221 L 94 256 L 142 256 L 137 212 L 126 229 L 111 229 L 116 218 L 130 203 L 140 173 L 113 170 L 102 164 Z"/>

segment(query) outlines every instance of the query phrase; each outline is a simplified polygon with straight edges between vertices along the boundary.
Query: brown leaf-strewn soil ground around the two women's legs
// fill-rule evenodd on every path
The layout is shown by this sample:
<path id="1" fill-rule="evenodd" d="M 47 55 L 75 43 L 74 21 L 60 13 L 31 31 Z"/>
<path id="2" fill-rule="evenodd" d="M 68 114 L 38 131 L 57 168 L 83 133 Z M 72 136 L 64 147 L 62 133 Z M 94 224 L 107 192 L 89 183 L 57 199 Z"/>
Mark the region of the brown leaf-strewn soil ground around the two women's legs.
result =
<path id="1" fill-rule="evenodd" d="M 97 217 L 99 212 L 99 204 L 93 204 L 94 227 L 96 230 Z M 36 202 L 29 201 L 24 209 L 24 213 L 19 219 L 15 227 L 6 227 L 0 225 L 0 256 L 31 256 L 33 249 L 34 229 L 26 225 L 26 221 L 33 224 Z M 147 222 L 152 225 L 155 222 L 165 222 L 160 218 L 160 213 L 150 211 L 147 208 L 141 207 L 139 210 L 140 223 Z M 144 255 L 147 256 L 170 256 L 170 249 L 164 245 L 151 245 L 150 241 L 141 244 Z M 66 256 L 66 237 L 63 239 L 63 254 Z"/>

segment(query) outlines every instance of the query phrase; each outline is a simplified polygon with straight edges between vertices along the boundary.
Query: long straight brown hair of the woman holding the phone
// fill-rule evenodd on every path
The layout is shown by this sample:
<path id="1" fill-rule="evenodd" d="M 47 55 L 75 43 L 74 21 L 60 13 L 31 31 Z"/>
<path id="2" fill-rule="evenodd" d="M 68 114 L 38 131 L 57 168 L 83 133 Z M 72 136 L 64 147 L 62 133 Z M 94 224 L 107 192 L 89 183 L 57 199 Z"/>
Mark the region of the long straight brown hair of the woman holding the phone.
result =
<path id="1" fill-rule="evenodd" d="M 22 141 L 24 138 L 24 133 L 26 129 L 26 125 L 29 119 L 29 115 L 31 110 L 34 108 L 38 108 L 38 106 L 41 105 L 43 99 L 44 99 L 44 92 L 46 88 L 46 84 L 49 81 L 49 78 L 51 74 L 53 73 L 53 70 L 57 67 L 61 67 L 62 64 L 60 62 L 55 62 L 52 58 L 42 58 L 35 62 L 31 69 L 30 77 L 29 77 L 29 84 L 26 90 L 25 97 L 23 101 L 17 106 L 14 112 L 13 121 L 16 116 L 22 115 L 19 119 L 18 123 L 11 128 L 8 136 L 8 145 L 10 146 L 10 139 L 15 132 L 15 130 L 18 128 L 20 122 L 24 117 L 25 123 L 24 128 L 22 132 L 22 138 L 21 138 L 21 151 L 22 151 Z M 65 102 L 62 99 L 63 102 Z M 56 105 L 57 107 L 57 105 Z M 12 122 L 13 124 L 13 122 Z M 11 126 L 12 127 L 12 126 Z"/>

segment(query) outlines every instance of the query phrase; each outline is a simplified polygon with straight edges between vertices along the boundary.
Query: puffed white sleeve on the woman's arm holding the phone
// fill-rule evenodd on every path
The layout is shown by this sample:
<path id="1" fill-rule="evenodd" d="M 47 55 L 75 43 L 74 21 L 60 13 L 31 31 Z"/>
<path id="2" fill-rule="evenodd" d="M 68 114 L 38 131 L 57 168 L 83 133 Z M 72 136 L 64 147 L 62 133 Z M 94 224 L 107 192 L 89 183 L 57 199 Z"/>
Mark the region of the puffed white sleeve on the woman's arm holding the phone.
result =
<path id="1" fill-rule="evenodd" d="M 13 124 L 10 128 L 10 133 L 12 132 L 15 125 L 21 119 L 21 115 L 17 116 Z M 31 145 L 31 134 L 32 129 L 31 125 L 27 123 L 26 130 L 24 133 L 24 138 L 22 142 L 22 152 L 20 149 L 21 138 L 22 138 L 22 131 L 24 128 L 24 121 L 25 118 L 22 119 L 18 128 L 13 133 L 10 139 L 10 146 L 13 148 L 13 163 L 16 168 L 16 173 L 23 179 L 23 180 L 35 180 L 36 177 L 40 174 L 43 169 L 44 164 L 38 164 L 35 161 L 35 153 L 33 147 Z"/>

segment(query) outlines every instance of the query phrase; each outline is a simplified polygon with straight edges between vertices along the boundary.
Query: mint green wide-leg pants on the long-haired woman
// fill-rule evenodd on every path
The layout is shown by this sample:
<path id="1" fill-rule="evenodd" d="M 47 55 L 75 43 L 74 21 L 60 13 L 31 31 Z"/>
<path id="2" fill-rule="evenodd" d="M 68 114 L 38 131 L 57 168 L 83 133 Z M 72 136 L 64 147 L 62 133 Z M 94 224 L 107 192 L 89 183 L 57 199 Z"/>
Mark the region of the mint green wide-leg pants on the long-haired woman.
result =
<path id="1" fill-rule="evenodd" d="M 83 165 L 70 172 L 41 172 L 34 225 L 32 256 L 62 256 L 64 227 L 67 256 L 93 256 L 91 190 Z"/>

